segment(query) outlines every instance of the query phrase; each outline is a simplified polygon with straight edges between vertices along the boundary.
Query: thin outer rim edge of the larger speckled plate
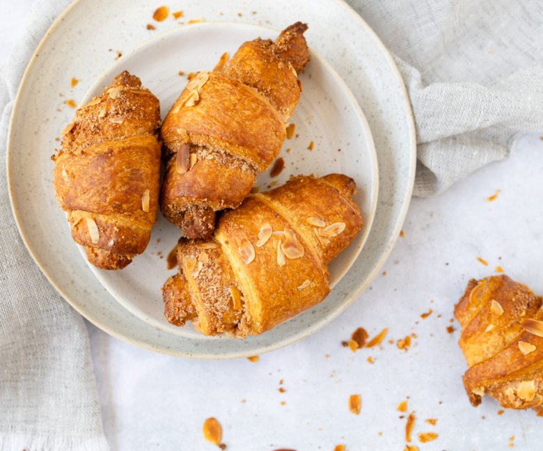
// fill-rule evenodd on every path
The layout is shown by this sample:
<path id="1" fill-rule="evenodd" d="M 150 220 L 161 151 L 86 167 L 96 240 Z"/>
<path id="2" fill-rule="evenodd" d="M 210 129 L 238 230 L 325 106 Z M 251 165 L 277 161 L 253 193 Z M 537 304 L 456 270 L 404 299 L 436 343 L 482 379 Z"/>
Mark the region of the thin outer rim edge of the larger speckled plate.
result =
<path id="1" fill-rule="evenodd" d="M 398 240 L 398 237 L 400 235 L 400 230 L 402 228 L 402 225 L 405 221 L 405 218 L 407 216 L 407 210 L 409 209 L 409 203 L 411 200 L 412 192 L 414 189 L 414 181 L 415 181 L 415 175 L 416 175 L 416 128 L 415 128 L 415 122 L 414 122 L 414 115 L 413 111 L 411 109 L 411 102 L 409 100 L 409 95 L 407 93 L 407 88 L 405 86 L 404 80 L 402 78 L 402 75 L 400 74 L 400 71 L 398 70 L 398 66 L 396 65 L 393 57 L 391 56 L 390 52 L 388 52 L 388 49 L 385 47 L 379 36 L 373 31 L 373 29 L 365 22 L 365 20 L 358 14 L 356 11 L 349 6 L 347 3 L 345 3 L 344 0 L 329 0 L 331 3 L 335 3 L 336 6 L 339 8 L 343 8 L 343 10 L 346 11 L 346 13 L 356 21 L 361 29 L 365 31 L 365 33 L 368 33 L 368 35 L 372 38 L 372 42 L 375 42 L 377 47 L 381 50 L 381 54 L 384 56 L 385 61 L 388 63 L 388 67 L 393 72 L 394 78 L 396 81 L 398 81 L 398 87 L 400 88 L 402 92 L 402 101 L 404 102 L 405 112 L 406 115 L 404 116 L 404 120 L 407 122 L 404 125 L 407 125 L 407 130 L 409 134 L 409 150 L 410 150 L 410 171 L 409 176 L 407 179 L 407 189 L 405 190 L 404 196 L 402 196 L 402 207 L 400 208 L 400 212 L 397 216 L 397 220 L 395 223 L 395 227 L 393 228 L 393 233 L 388 237 L 386 245 L 383 247 L 383 250 L 379 253 L 379 259 L 375 263 L 372 271 L 368 272 L 368 276 L 365 278 L 364 282 L 361 283 L 361 285 L 356 288 L 352 292 L 352 294 L 349 296 L 349 300 L 345 301 L 340 308 L 333 311 L 333 314 L 329 315 L 329 319 L 326 322 L 319 322 L 314 324 L 311 328 L 304 329 L 301 333 L 294 335 L 294 337 L 291 337 L 288 340 L 279 340 L 275 342 L 272 345 L 260 345 L 260 349 L 256 349 L 253 351 L 246 351 L 245 349 L 240 349 L 237 352 L 231 352 L 230 354 L 198 354 L 198 353 L 190 353 L 189 351 L 178 351 L 176 349 L 169 349 L 168 347 L 159 347 L 157 345 L 153 345 L 150 342 L 147 342 L 145 340 L 141 340 L 139 338 L 133 338 L 132 336 L 129 336 L 127 333 L 121 333 L 116 331 L 116 329 L 113 329 L 109 326 L 106 326 L 102 324 L 97 318 L 95 318 L 93 315 L 84 315 L 82 312 L 82 308 L 80 308 L 77 303 L 72 303 L 70 301 L 69 296 L 65 293 L 65 290 L 63 290 L 52 278 L 50 274 L 48 274 L 47 271 L 44 270 L 40 260 L 32 250 L 29 239 L 27 237 L 27 234 L 24 232 L 24 228 L 22 227 L 22 219 L 20 218 L 19 214 L 17 213 L 17 210 L 15 209 L 15 194 L 13 193 L 13 183 L 12 183 L 12 176 L 10 173 L 11 168 L 11 155 L 10 155 L 10 148 L 12 147 L 12 137 L 14 134 L 14 127 L 13 124 L 15 122 L 15 113 L 19 109 L 19 101 L 21 98 L 22 91 L 24 90 L 24 87 L 26 86 L 27 80 L 29 78 L 29 73 L 31 72 L 31 69 L 36 62 L 37 56 L 40 54 L 40 51 L 45 46 L 47 39 L 49 38 L 49 35 L 52 34 L 52 32 L 58 27 L 61 22 L 64 21 L 65 17 L 76 7 L 79 6 L 80 3 L 84 3 L 83 0 L 73 0 L 71 3 L 66 6 L 62 12 L 54 19 L 54 22 L 52 22 L 51 26 L 49 26 L 49 29 L 47 29 L 47 32 L 45 35 L 42 36 L 40 42 L 38 43 L 38 46 L 34 50 L 31 58 L 29 58 L 29 62 L 26 65 L 26 68 L 22 74 L 21 80 L 19 82 L 19 86 L 17 88 L 17 93 L 15 95 L 15 98 L 13 100 L 13 109 L 10 114 L 10 120 L 8 125 L 8 136 L 6 139 L 6 181 L 8 184 L 8 196 L 10 198 L 10 206 L 12 209 L 12 214 L 15 220 L 15 224 L 17 225 L 17 230 L 19 232 L 19 236 L 22 239 L 22 242 L 24 243 L 26 249 L 29 251 L 29 254 L 33 258 L 34 262 L 38 265 L 40 268 L 40 271 L 44 276 L 47 278 L 49 283 L 55 288 L 55 290 L 58 292 L 58 294 L 61 294 L 63 299 L 67 301 L 74 310 L 79 312 L 80 315 L 88 319 L 89 322 L 93 323 L 95 326 L 97 326 L 99 329 L 102 329 L 106 333 L 109 333 L 109 335 L 112 335 L 115 338 L 118 338 L 120 340 L 123 340 L 124 342 L 127 342 L 132 345 L 137 345 L 139 347 L 142 347 L 144 349 L 152 350 L 152 351 L 158 351 L 163 354 L 169 354 L 172 356 L 183 356 L 185 358 L 202 358 L 202 359 L 226 359 L 226 358 L 240 358 L 245 356 L 253 355 L 255 351 L 258 351 L 259 354 L 273 351 L 275 349 L 284 347 L 286 345 L 290 345 L 293 342 L 296 342 L 298 340 L 301 340 L 302 338 L 306 338 L 308 335 L 311 335 L 318 331 L 319 329 L 322 329 L 326 324 L 329 324 L 333 319 L 338 317 L 341 313 L 343 313 L 348 306 L 356 299 L 358 296 L 360 296 L 361 292 L 365 290 L 365 288 L 370 284 L 370 282 L 375 278 L 378 271 L 381 269 L 381 267 L 384 265 L 386 260 L 388 260 L 388 256 L 390 255 L 395 243 Z M 166 31 L 164 32 L 166 33 Z M 340 77 L 343 79 L 343 77 Z M 348 85 L 347 85 L 348 86 Z M 355 97 L 356 98 L 356 97 Z M 378 200 L 379 202 L 379 200 Z M 374 216 L 375 217 L 375 216 Z M 108 293 L 109 294 L 109 293 Z M 111 296 L 111 295 L 110 295 Z M 156 329 L 156 328 L 155 328 Z M 163 333 L 163 331 L 157 329 L 158 333 Z M 182 340 L 182 337 L 179 337 L 180 340 Z"/>

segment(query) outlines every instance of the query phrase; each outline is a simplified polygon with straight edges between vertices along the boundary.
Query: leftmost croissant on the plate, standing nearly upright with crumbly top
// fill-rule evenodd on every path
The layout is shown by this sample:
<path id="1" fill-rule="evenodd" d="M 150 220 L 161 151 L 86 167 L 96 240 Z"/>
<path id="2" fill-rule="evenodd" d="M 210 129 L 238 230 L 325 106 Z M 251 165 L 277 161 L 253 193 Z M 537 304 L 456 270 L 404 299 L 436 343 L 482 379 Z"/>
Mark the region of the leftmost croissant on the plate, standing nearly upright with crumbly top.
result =
<path id="1" fill-rule="evenodd" d="M 63 131 L 53 184 L 75 242 L 88 261 L 121 269 L 142 253 L 155 223 L 161 146 L 157 97 L 119 74 L 81 106 Z"/>

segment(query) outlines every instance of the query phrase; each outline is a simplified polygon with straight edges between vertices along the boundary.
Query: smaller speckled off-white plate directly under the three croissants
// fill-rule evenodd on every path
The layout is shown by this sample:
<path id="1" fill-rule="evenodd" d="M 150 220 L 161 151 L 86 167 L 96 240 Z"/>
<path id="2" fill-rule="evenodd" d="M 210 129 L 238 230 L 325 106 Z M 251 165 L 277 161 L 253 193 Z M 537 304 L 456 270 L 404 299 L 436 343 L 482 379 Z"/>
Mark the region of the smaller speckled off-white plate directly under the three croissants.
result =
<path id="1" fill-rule="evenodd" d="M 257 36 L 275 38 L 276 35 L 277 31 L 260 26 L 221 22 L 169 31 L 113 63 L 81 102 L 86 103 L 100 94 L 116 74 L 128 70 L 138 75 L 144 86 L 159 98 L 164 118 L 187 84 L 187 77 L 178 74 L 180 68 L 185 74 L 198 69 L 211 70 L 223 52 L 232 55 L 246 40 Z M 278 177 L 270 177 L 269 170 L 262 173 L 257 186 L 263 191 L 272 185 L 283 184 L 290 175 L 312 173 L 343 173 L 355 180 L 358 187 L 355 200 L 361 206 L 365 225 L 349 247 L 331 262 L 333 287 L 354 263 L 371 230 L 379 184 L 377 157 L 368 122 L 349 88 L 330 65 L 311 52 L 311 61 L 300 79 L 304 92 L 290 121 L 295 125 L 295 135 L 285 141 L 280 153 L 285 168 Z M 308 150 L 311 141 L 313 150 Z M 111 295 L 136 317 L 159 329 L 204 340 L 191 324 L 173 326 L 163 314 L 160 289 L 164 280 L 175 271 L 166 271 L 166 256 L 179 237 L 178 229 L 158 214 L 148 248 L 126 269 L 104 271 L 92 264 L 88 266 Z M 82 247 L 81 255 L 86 260 Z"/>

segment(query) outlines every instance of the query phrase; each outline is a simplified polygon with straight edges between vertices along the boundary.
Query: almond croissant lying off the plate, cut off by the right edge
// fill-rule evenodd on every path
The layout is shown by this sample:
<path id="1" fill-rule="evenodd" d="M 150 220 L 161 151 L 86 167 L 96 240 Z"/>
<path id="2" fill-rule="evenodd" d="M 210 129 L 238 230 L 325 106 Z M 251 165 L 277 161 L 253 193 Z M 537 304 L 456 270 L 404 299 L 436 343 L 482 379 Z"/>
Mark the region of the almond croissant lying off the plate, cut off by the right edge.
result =
<path id="1" fill-rule="evenodd" d="M 459 345 L 469 370 L 464 388 L 473 406 L 485 393 L 505 408 L 543 415 L 541 296 L 507 276 L 470 280 L 455 307 Z"/>

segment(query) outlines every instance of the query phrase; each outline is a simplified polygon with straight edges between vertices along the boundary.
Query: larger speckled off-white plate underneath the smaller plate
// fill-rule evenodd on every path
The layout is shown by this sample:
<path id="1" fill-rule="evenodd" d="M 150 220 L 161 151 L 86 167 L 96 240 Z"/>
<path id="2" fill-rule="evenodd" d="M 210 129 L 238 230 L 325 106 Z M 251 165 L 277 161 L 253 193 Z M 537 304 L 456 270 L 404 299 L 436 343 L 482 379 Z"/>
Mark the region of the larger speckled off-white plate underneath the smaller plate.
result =
<path id="1" fill-rule="evenodd" d="M 152 22 L 157 6 L 159 3 L 149 0 L 133 1 L 129 8 L 123 0 L 74 1 L 47 32 L 26 69 L 10 123 L 7 166 L 17 225 L 58 292 L 87 319 L 118 338 L 156 351 L 200 358 L 249 356 L 287 345 L 343 312 L 368 286 L 398 237 L 416 163 L 414 123 L 402 79 L 375 33 L 338 0 L 320 1 L 319 8 L 310 0 L 217 0 L 188 8 L 174 1 L 170 5 L 171 10 L 184 10 L 189 19 L 203 17 L 207 22 L 244 22 L 269 29 L 283 29 L 296 20 L 308 22 L 310 47 L 338 71 L 368 119 L 377 149 L 379 198 L 363 252 L 319 306 L 243 341 L 194 340 L 169 333 L 121 306 L 88 269 L 56 206 L 49 161 L 58 146 L 59 130 L 74 112 L 64 100 L 79 103 L 113 63 L 117 51 L 129 54 L 157 33 L 186 26 L 169 17 L 155 22 L 156 31 L 148 31 L 145 25 Z M 221 51 L 217 49 L 216 56 Z M 74 88 L 70 88 L 72 77 L 79 79 Z"/>

